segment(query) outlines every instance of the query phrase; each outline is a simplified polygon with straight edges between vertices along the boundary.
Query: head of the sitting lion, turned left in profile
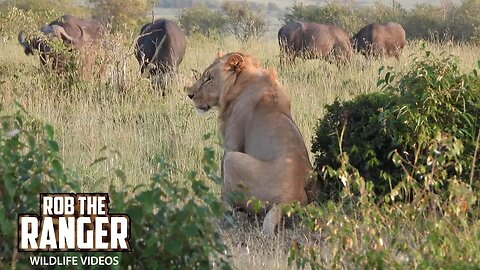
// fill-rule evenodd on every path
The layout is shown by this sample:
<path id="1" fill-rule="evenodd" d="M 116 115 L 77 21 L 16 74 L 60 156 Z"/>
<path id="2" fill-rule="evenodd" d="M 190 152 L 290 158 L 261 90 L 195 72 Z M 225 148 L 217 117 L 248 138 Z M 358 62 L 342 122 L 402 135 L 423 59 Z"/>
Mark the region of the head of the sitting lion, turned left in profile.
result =
<path id="1" fill-rule="evenodd" d="M 199 113 L 219 107 L 225 93 L 235 84 L 239 74 L 248 68 L 259 68 L 256 60 L 242 53 L 219 56 L 205 69 L 200 78 L 188 90 L 188 97 Z"/>

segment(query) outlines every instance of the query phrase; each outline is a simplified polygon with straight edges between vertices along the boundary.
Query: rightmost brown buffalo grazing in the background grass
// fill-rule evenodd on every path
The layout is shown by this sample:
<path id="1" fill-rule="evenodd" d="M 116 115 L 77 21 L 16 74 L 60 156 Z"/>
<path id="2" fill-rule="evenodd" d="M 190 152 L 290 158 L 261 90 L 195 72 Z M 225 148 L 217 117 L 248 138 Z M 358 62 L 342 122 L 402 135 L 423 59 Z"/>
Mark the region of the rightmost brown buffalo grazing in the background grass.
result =
<path id="1" fill-rule="evenodd" d="M 365 56 L 395 56 L 397 59 L 407 43 L 405 30 L 395 22 L 369 24 L 352 39 L 353 47 Z"/>

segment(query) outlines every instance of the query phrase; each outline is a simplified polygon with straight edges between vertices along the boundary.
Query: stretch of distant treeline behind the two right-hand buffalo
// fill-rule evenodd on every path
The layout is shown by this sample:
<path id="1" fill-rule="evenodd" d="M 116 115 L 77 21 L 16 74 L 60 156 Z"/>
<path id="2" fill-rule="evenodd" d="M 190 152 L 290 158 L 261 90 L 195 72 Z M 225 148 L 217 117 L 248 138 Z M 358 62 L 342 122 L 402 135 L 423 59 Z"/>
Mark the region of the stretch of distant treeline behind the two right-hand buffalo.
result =
<path id="1" fill-rule="evenodd" d="M 459 4 L 417 4 L 405 9 L 400 4 L 387 6 L 348 6 L 329 3 L 324 6 L 294 4 L 284 15 L 284 22 L 309 21 L 342 26 L 350 34 L 374 22 L 395 21 L 405 28 L 409 39 L 473 41 L 480 43 L 480 0 Z"/>

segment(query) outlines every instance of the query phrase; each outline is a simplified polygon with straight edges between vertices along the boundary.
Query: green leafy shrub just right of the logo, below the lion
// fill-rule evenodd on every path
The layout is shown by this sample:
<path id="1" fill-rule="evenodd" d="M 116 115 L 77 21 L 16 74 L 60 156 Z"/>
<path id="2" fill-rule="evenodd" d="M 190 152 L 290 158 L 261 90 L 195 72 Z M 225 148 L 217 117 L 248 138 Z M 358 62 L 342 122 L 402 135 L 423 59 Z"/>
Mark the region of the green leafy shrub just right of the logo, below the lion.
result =
<path id="1" fill-rule="evenodd" d="M 205 161 L 207 167 L 209 162 Z M 230 269 L 227 248 L 215 225 L 223 217 L 223 202 L 196 172 L 188 174 L 188 187 L 180 186 L 168 178 L 171 167 L 161 161 L 159 166 L 161 172 L 146 190 L 125 202 L 131 188 L 110 190 L 113 201 L 119 202 L 115 211 L 128 213 L 133 221 L 133 252 L 122 254 L 120 264 L 134 269 Z"/>

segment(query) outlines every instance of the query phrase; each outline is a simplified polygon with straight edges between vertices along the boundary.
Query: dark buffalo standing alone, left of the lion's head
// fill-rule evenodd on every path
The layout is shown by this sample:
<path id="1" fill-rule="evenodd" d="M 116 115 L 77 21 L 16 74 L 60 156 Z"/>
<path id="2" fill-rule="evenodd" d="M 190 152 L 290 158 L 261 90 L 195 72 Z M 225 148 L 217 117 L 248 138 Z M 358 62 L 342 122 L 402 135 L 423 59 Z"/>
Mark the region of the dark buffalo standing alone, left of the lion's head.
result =
<path id="1" fill-rule="evenodd" d="M 145 24 L 137 39 L 135 56 L 142 73 L 147 66 L 150 75 L 175 71 L 185 55 L 185 34 L 174 22 L 159 19 Z"/>

